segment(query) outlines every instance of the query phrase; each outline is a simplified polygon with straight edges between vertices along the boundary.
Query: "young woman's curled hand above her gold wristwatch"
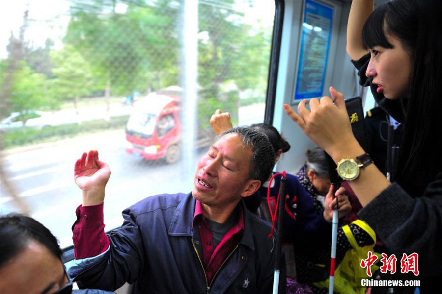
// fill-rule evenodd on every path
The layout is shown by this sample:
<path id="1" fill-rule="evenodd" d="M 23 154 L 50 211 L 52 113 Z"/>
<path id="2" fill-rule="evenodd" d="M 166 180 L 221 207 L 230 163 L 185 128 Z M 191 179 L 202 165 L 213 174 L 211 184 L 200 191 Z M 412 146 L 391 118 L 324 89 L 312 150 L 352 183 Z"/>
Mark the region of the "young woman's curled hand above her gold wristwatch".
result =
<path id="1" fill-rule="evenodd" d="M 333 99 L 324 96 L 312 98 L 310 110 L 305 99 L 298 104 L 298 114 L 288 104 L 284 104 L 284 110 L 313 142 L 338 161 L 340 158 L 333 157 L 334 151 L 357 141 L 350 126 L 344 95 L 333 87 L 330 87 L 330 94 L 334 103 Z"/>

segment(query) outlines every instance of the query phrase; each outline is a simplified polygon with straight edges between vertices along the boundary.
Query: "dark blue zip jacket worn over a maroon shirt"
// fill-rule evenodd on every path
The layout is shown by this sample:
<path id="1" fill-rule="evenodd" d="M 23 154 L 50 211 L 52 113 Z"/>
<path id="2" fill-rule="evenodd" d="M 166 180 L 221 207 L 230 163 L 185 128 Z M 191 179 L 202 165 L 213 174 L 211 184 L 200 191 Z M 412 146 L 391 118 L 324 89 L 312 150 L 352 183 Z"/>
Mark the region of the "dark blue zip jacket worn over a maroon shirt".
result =
<path id="1" fill-rule="evenodd" d="M 211 285 L 194 248 L 200 242 L 192 230 L 195 199 L 190 193 L 151 196 L 125 209 L 123 225 L 108 234 L 109 249 L 74 261 L 69 275 L 81 288 L 110 291 L 127 281 L 135 283 L 135 293 L 270 293 L 275 265 L 274 241 L 267 237 L 271 226 L 240 203 L 244 234 Z M 282 269 L 279 291 L 285 293 L 284 262 Z"/>

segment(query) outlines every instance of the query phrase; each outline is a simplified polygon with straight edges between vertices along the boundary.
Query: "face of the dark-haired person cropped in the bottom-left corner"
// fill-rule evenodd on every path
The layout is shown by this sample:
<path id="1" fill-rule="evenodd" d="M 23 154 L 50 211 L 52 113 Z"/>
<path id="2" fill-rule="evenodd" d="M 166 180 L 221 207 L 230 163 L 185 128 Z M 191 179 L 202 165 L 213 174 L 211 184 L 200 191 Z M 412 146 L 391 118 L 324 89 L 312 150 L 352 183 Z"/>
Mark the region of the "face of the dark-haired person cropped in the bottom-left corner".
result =
<path id="1" fill-rule="evenodd" d="M 68 282 L 61 261 L 36 241 L 3 265 L 0 277 L 0 293 L 53 293 Z"/>

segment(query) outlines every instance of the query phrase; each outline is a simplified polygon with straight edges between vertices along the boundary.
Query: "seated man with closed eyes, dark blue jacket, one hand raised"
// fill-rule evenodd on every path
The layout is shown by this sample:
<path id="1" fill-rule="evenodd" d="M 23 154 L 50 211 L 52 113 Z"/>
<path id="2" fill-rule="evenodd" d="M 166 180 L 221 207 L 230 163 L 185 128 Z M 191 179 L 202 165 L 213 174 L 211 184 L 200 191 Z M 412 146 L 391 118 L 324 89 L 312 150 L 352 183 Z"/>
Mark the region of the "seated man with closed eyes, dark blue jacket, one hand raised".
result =
<path id="1" fill-rule="evenodd" d="M 74 170 L 83 203 L 69 274 L 81 288 L 115 290 L 129 282 L 135 293 L 270 293 L 271 225 L 241 198 L 258 190 L 274 162 L 265 135 L 233 128 L 200 158 L 191 193 L 148 197 L 125 209 L 123 225 L 106 235 L 103 201 L 111 171 L 97 151 L 83 153 Z"/>

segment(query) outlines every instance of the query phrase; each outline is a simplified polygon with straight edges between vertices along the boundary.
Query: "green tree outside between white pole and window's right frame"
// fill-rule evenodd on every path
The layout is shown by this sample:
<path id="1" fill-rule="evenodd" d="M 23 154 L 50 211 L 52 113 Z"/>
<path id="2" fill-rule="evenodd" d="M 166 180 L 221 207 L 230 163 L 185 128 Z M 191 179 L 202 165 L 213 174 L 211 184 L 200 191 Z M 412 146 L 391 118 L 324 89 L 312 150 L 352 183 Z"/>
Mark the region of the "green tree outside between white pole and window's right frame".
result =
<path id="1" fill-rule="evenodd" d="M 208 35 L 198 44 L 198 119 L 204 125 L 217 108 L 236 123 L 239 91 L 259 89 L 265 99 L 272 29 L 244 23 L 235 2 L 200 1 L 199 31 Z"/>

